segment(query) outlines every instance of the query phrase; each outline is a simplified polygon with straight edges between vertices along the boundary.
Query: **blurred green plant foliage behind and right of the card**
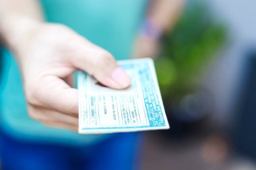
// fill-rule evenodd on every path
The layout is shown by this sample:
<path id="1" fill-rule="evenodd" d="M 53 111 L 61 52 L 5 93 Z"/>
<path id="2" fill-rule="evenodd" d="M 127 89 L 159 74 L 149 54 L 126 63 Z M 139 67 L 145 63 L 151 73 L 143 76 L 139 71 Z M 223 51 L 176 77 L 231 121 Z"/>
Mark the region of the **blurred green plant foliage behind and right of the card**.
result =
<path id="1" fill-rule="evenodd" d="M 224 44 L 226 29 L 204 3 L 188 3 L 172 32 L 162 38 L 156 72 L 166 101 L 195 89 L 214 54 Z"/>

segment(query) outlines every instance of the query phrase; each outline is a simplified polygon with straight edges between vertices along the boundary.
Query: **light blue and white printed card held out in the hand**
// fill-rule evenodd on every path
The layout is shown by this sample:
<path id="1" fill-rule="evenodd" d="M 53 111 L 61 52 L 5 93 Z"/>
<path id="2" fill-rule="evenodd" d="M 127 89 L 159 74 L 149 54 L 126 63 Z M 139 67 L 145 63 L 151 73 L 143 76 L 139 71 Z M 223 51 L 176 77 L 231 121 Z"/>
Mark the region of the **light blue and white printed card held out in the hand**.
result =
<path id="1" fill-rule="evenodd" d="M 78 73 L 79 133 L 168 129 L 153 60 L 141 58 L 118 63 L 131 77 L 127 89 L 110 89 L 86 73 Z"/>

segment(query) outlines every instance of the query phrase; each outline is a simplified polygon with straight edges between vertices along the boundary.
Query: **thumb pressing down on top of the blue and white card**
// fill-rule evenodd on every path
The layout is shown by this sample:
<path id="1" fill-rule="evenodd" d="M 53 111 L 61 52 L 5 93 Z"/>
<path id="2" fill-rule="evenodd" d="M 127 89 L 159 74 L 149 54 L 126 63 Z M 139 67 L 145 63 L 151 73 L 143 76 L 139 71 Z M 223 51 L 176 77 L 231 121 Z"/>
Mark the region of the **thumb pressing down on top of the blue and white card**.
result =
<path id="1" fill-rule="evenodd" d="M 129 75 L 109 52 L 81 37 L 71 45 L 73 56 L 70 61 L 74 67 L 86 71 L 108 87 L 123 89 L 130 85 Z"/>

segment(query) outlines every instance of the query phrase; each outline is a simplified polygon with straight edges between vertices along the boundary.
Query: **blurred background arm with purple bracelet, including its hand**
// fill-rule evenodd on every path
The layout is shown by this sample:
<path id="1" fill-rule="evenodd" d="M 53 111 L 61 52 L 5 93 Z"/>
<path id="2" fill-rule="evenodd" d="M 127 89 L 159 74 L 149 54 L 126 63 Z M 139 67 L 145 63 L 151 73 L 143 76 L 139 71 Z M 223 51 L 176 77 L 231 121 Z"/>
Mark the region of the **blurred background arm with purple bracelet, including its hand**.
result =
<path id="1" fill-rule="evenodd" d="M 164 32 L 169 32 L 177 22 L 185 0 L 152 0 L 146 19 L 135 41 L 133 56 L 155 57 L 158 40 Z"/>

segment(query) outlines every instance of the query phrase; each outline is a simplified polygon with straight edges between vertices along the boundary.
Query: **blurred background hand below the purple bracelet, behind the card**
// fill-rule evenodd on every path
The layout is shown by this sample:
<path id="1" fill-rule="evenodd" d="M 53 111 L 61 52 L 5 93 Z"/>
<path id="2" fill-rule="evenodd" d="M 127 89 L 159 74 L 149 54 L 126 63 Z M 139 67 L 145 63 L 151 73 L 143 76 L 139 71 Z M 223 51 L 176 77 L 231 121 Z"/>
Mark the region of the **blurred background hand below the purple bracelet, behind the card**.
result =
<path id="1" fill-rule="evenodd" d="M 156 58 L 158 56 L 159 43 L 158 40 L 148 38 L 139 34 L 135 40 L 133 48 L 133 58 Z"/>

